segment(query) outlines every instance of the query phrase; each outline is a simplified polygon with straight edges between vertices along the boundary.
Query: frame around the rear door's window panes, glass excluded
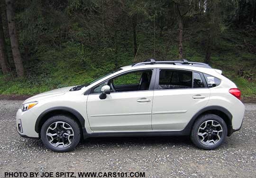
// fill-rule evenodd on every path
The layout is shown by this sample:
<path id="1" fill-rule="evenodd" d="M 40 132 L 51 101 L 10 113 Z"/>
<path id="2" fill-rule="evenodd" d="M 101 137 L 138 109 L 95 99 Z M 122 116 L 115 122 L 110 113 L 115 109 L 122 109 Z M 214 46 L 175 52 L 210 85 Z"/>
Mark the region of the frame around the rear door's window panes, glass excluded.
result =
<path id="1" fill-rule="evenodd" d="M 160 71 L 161 70 L 176 70 L 176 71 L 190 71 L 192 72 L 192 87 L 191 88 L 168 88 L 168 89 L 158 89 L 158 85 L 159 85 L 159 76 L 160 76 Z M 193 78 L 194 78 L 194 72 L 197 72 L 200 74 L 201 76 L 201 79 L 203 81 L 203 85 L 204 87 L 202 88 L 193 88 Z M 155 75 L 155 85 L 154 85 L 154 90 L 155 91 L 159 91 L 159 90 L 190 90 L 190 89 L 205 89 L 205 88 L 209 88 L 206 81 L 205 81 L 205 78 L 203 76 L 203 74 L 199 71 L 194 71 L 194 70 L 189 70 L 189 69 L 180 69 L 180 68 L 157 68 L 156 70 L 156 75 Z"/>

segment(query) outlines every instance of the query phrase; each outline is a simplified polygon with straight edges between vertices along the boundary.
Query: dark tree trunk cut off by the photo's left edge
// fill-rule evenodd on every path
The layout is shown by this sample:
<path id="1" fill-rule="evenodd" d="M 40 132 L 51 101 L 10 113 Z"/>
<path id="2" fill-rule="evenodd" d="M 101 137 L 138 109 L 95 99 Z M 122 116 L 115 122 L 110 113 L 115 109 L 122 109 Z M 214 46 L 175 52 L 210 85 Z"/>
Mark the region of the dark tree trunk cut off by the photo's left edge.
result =
<path id="1" fill-rule="evenodd" d="M 2 14 L 0 14 L 0 66 L 4 75 L 10 72 L 9 63 L 6 54 L 6 42 L 4 38 Z"/>

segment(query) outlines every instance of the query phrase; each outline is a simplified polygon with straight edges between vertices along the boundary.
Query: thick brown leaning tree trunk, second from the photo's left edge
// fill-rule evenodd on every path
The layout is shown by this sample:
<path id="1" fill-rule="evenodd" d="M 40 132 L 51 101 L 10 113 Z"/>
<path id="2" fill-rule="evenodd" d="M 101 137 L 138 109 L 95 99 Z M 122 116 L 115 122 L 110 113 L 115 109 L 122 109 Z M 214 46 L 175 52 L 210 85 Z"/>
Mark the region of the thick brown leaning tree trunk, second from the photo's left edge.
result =
<path id="1" fill-rule="evenodd" d="M 9 36 L 10 36 L 13 60 L 14 60 L 17 76 L 22 77 L 24 76 L 24 70 L 23 70 L 20 51 L 18 48 L 18 36 L 17 36 L 17 31 L 15 28 L 15 22 L 14 22 L 14 8 L 13 8 L 14 0 L 5 0 L 5 2 L 6 2 L 6 16 L 7 16 L 8 27 L 9 27 Z"/>

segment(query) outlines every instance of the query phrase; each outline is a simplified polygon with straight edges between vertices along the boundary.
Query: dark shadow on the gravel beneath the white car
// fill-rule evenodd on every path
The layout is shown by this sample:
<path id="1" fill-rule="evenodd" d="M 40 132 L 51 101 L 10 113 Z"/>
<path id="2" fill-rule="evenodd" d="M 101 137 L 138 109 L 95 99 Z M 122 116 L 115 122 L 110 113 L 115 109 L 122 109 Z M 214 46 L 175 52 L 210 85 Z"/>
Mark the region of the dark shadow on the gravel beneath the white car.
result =
<path id="1" fill-rule="evenodd" d="M 41 139 L 24 139 L 22 146 L 32 150 L 46 151 L 46 147 L 42 143 Z M 83 149 L 128 149 L 131 147 L 179 147 L 184 149 L 197 149 L 189 138 L 189 136 L 136 136 L 136 137 L 95 137 L 81 140 L 77 145 L 76 151 L 82 151 Z M 234 143 L 232 138 L 226 140 L 219 149 L 227 149 L 229 147 L 239 147 Z"/>

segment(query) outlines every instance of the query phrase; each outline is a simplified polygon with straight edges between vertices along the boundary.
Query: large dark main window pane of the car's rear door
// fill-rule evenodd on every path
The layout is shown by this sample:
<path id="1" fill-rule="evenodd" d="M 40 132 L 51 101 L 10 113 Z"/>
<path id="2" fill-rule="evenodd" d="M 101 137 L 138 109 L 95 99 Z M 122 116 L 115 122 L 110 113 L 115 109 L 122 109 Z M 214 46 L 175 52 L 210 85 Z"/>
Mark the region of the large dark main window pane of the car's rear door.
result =
<path id="1" fill-rule="evenodd" d="M 192 72 L 160 70 L 158 89 L 192 88 Z"/>

